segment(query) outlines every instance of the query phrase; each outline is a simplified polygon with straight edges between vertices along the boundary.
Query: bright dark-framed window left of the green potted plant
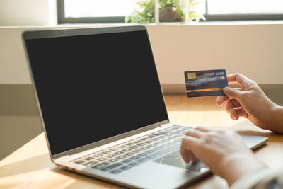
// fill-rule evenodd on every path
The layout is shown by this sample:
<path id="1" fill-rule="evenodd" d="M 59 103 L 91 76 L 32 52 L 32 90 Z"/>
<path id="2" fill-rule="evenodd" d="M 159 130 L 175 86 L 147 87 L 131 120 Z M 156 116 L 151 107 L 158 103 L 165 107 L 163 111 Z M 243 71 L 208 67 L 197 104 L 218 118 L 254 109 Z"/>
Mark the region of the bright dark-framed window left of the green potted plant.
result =
<path id="1" fill-rule="evenodd" d="M 133 0 L 57 0 L 58 23 L 123 23 Z"/>

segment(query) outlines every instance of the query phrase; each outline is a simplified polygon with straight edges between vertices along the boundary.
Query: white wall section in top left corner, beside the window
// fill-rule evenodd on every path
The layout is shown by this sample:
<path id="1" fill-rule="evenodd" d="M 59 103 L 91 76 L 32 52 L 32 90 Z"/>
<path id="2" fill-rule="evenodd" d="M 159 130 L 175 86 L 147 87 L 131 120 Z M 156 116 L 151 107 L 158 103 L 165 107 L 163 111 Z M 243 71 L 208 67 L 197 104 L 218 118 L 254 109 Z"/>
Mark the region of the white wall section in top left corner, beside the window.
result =
<path id="1" fill-rule="evenodd" d="M 0 26 L 50 24 L 49 1 L 1 0 Z"/>

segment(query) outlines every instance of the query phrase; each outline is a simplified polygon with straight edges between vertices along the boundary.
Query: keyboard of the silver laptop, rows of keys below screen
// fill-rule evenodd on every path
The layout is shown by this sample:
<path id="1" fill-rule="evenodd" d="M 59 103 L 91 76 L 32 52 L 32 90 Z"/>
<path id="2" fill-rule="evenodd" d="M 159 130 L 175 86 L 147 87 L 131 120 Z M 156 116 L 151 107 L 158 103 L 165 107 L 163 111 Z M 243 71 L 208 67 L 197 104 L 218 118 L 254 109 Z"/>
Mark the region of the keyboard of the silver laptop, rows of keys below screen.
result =
<path id="1" fill-rule="evenodd" d="M 190 127 L 175 126 L 132 139 L 71 162 L 110 173 L 121 173 L 146 161 L 180 149 L 182 138 Z"/>

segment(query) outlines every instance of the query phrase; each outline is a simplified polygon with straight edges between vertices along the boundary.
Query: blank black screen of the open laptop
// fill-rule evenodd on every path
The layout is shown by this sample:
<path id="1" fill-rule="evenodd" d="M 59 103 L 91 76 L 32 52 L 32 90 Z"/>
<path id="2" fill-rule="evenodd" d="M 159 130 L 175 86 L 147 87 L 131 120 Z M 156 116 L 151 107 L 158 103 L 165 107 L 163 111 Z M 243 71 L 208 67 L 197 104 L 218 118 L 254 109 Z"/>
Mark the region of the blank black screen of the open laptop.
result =
<path id="1" fill-rule="evenodd" d="M 146 30 L 25 45 L 52 155 L 168 120 Z"/>

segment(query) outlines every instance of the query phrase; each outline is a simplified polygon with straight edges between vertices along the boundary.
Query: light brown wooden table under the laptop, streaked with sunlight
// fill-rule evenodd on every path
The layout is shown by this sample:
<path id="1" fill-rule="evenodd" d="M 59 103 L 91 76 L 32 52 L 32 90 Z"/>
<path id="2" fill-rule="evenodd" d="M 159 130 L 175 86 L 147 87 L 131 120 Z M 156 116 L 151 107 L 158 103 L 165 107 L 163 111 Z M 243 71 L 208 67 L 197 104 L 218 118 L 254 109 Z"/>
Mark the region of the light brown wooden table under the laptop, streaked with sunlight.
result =
<path id="1" fill-rule="evenodd" d="M 283 135 L 261 130 L 244 118 L 231 120 L 224 105 L 215 105 L 215 97 L 190 99 L 185 95 L 166 95 L 165 99 L 172 123 L 204 125 L 269 137 L 269 142 L 255 150 L 255 154 L 267 166 L 283 168 Z M 42 133 L 0 161 L 0 188 L 121 187 L 65 171 L 52 164 L 45 135 Z M 187 188 L 228 188 L 228 185 L 219 176 L 209 174 Z"/>

